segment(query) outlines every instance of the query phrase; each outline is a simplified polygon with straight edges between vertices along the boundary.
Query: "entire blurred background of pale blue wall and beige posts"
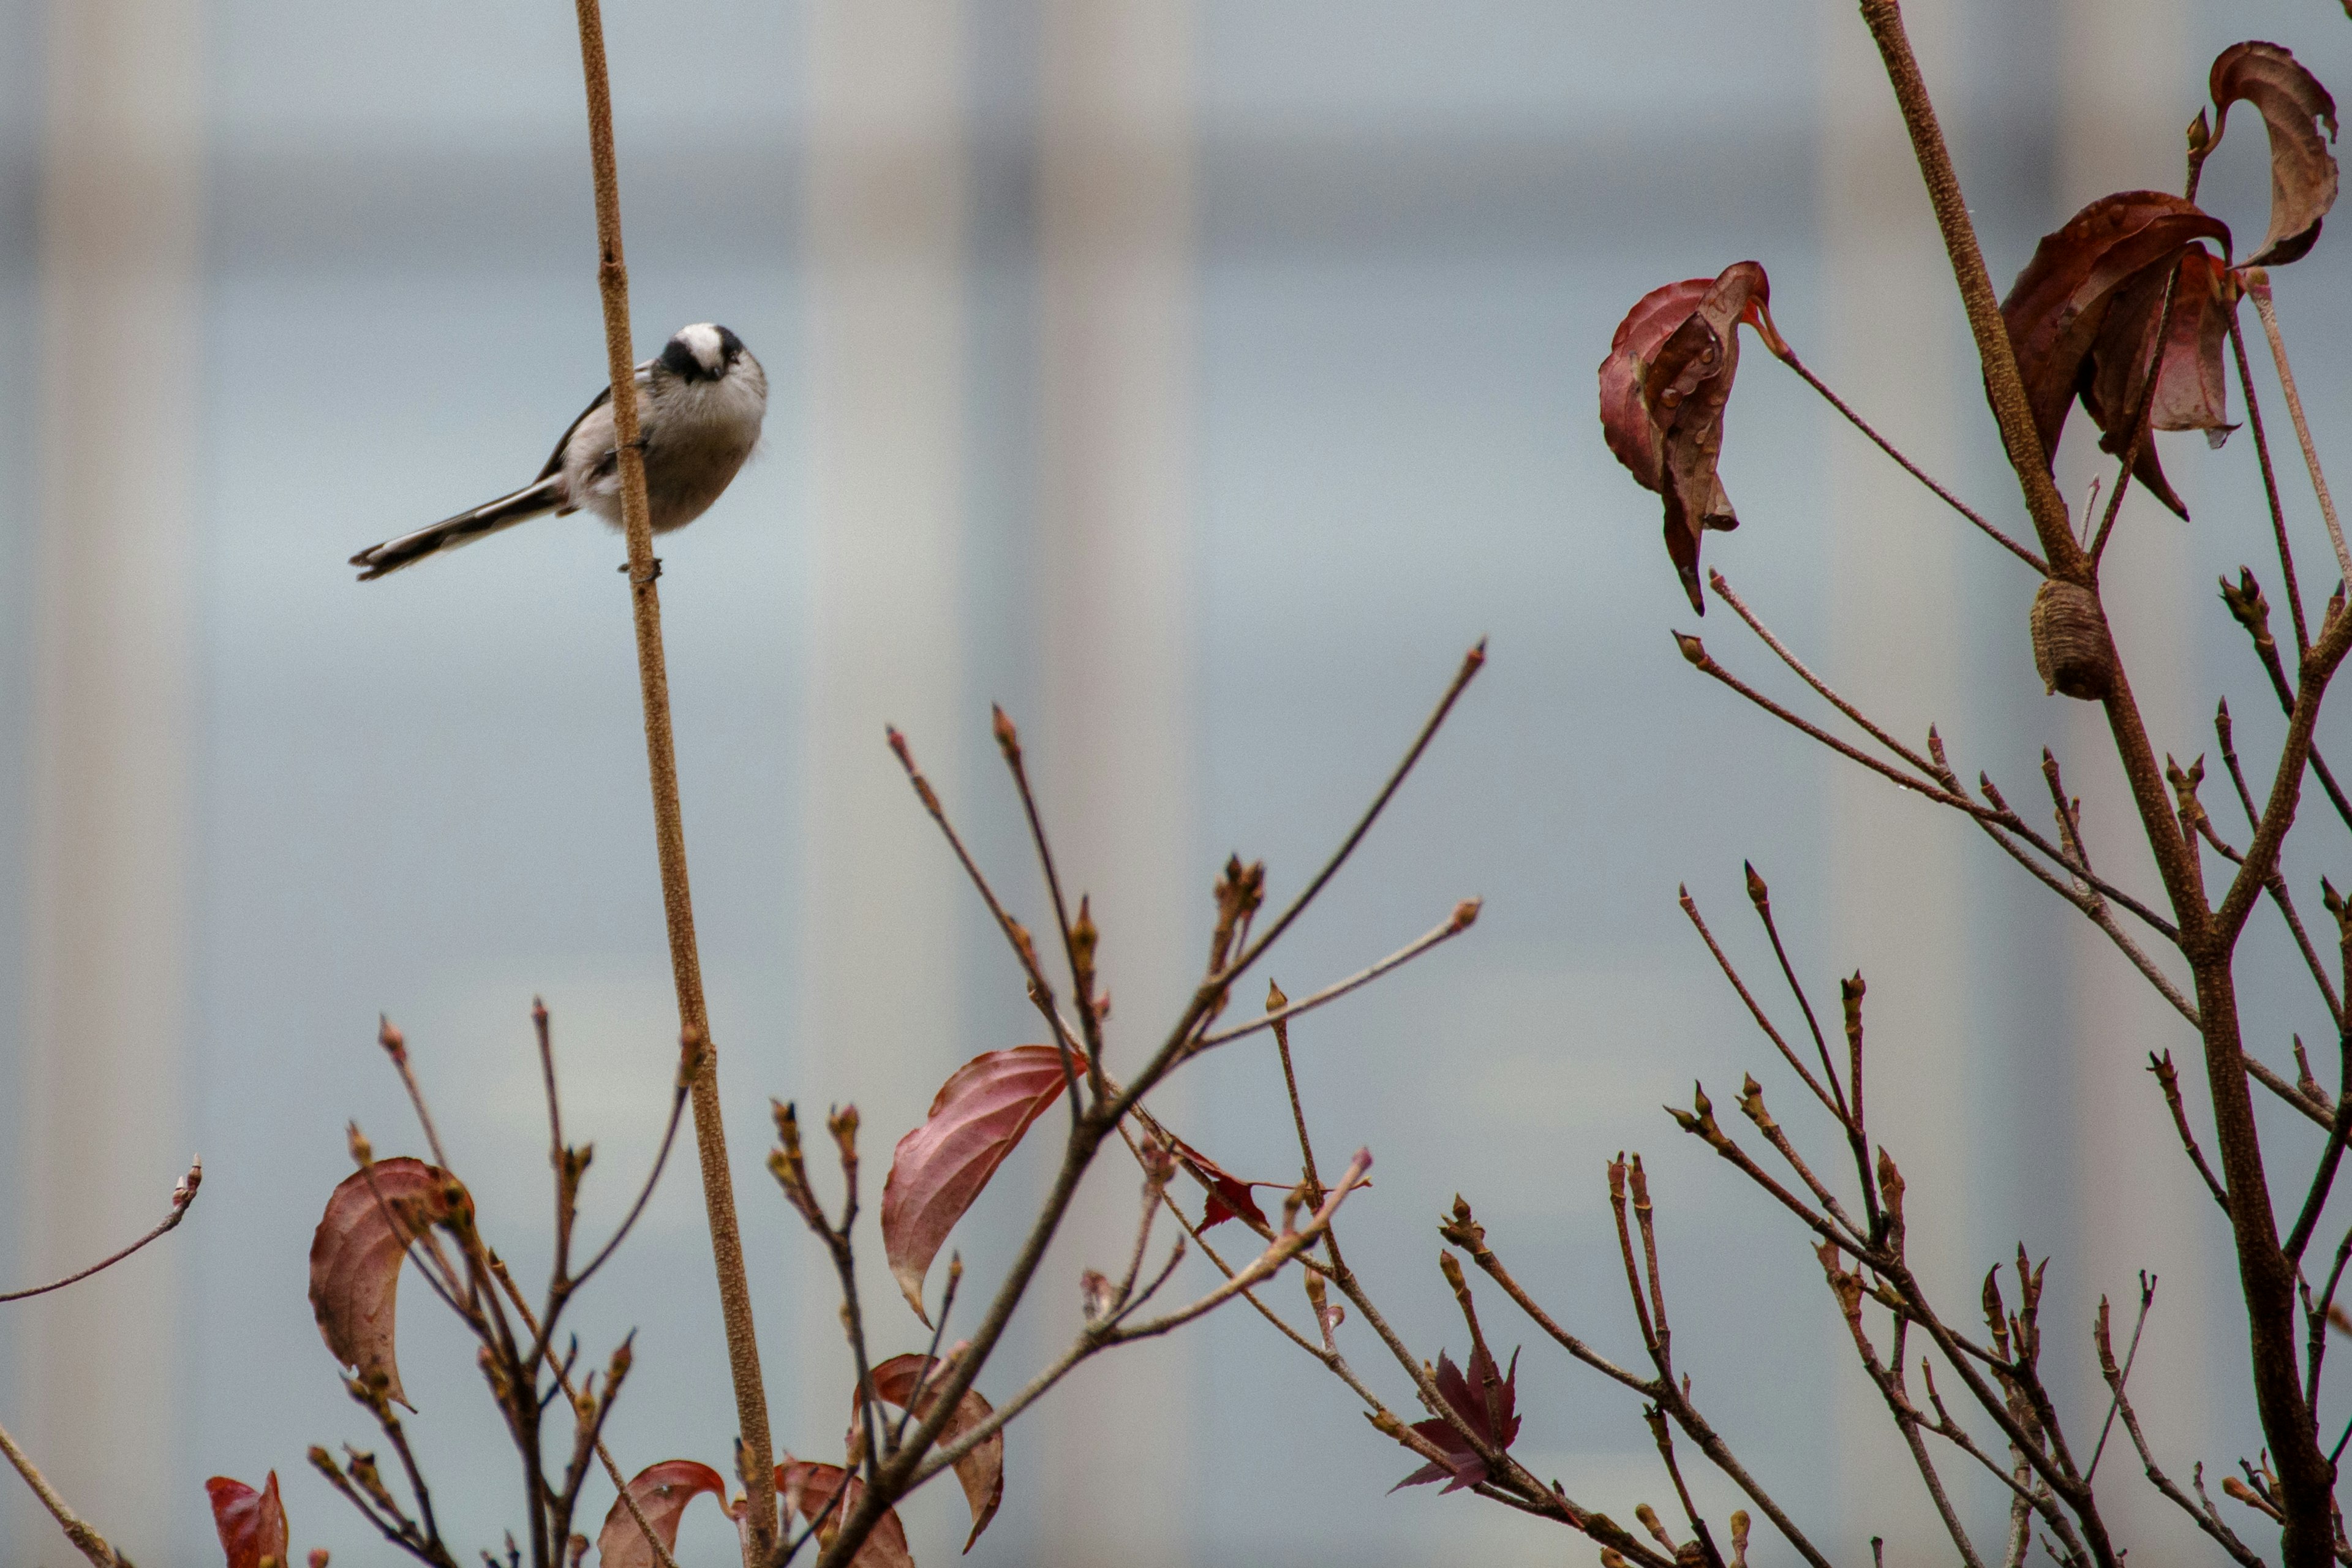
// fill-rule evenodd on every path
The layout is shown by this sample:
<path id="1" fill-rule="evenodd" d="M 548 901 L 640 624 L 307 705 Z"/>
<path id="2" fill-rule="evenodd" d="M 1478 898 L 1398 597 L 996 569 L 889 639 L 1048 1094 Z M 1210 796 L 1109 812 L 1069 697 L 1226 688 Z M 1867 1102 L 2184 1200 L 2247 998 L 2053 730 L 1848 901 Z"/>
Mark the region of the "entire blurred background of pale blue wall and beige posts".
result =
<path id="1" fill-rule="evenodd" d="M 2321 0 L 1907 12 L 2002 287 L 2093 195 L 2178 188 L 2223 45 L 2272 38 L 2352 82 L 2352 26 Z M 1816 1004 L 1839 973 L 1870 980 L 1875 1119 L 1955 1316 L 2018 1239 L 2053 1253 L 2049 1359 L 2082 1434 L 2103 1410 L 2093 1305 L 2154 1269 L 2136 1389 L 2159 1455 L 2225 1472 L 2258 1448 L 2225 1232 L 2143 1070 L 2192 1037 L 1964 823 L 1675 656 L 1665 632 L 1691 616 L 1658 503 L 1595 428 L 1625 308 L 1752 256 L 1799 353 L 2025 534 L 1851 5 L 713 0 L 614 5 L 609 33 L 637 348 L 720 320 L 774 388 L 764 454 L 661 552 L 783 1446 L 835 1453 L 849 1368 L 823 1258 L 760 1166 L 764 1098 L 856 1100 L 873 1201 L 938 1081 L 1033 1039 L 882 726 L 1035 924 L 988 703 L 1021 722 L 1061 865 L 1096 898 L 1112 1053 L 1136 1060 L 1197 973 L 1223 856 L 1296 889 L 1491 637 L 1421 773 L 1272 961 L 1301 994 L 1486 898 L 1468 940 L 1296 1032 L 1324 1147 L 1378 1157 L 1350 1258 L 1416 1349 L 1465 1349 L 1432 1267 L 1432 1220 L 1463 1192 L 1555 1316 L 1637 1356 L 1602 1166 L 1642 1147 L 1700 1406 L 1844 1559 L 1870 1535 L 1896 1561 L 1947 1552 L 1802 1237 L 1656 1110 L 1693 1077 L 1724 1103 L 1755 1067 L 1825 1147 L 1675 907 L 1686 882 L 1795 1020 L 1764 985 L 1748 856 Z M 0 1288 L 111 1251 L 162 1213 L 191 1150 L 207 1161 L 165 1244 L 0 1309 L 0 1422 L 151 1566 L 219 1561 L 202 1479 L 273 1467 L 296 1549 L 388 1556 L 301 1458 L 372 1443 L 303 1286 L 346 1119 L 383 1154 L 421 1152 L 379 1011 L 524 1274 L 548 1208 L 534 994 L 574 1135 L 597 1145 L 583 1225 L 619 1215 L 659 1135 L 675 1016 L 619 541 L 539 522 L 367 588 L 341 564 L 527 480 L 600 383 L 581 132 L 564 5 L 0 2 Z M 2204 183 L 2241 249 L 2263 176 L 2246 115 Z M 2338 463 L 2345 254 L 2331 235 L 2279 273 Z M 2284 440 L 2277 400 L 2272 418 Z M 2063 451 L 2070 498 L 2107 473 L 2089 447 L 2077 428 Z M 2260 752 L 2279 724 L 2211 592 L 2267 552 L 2251 442 L 2166 437 L 2164 456 L 2197 522 L 2126 508 L 2110 604 L 2133 679 L 2161 750 L 2209 750 L 2227 693 Z M 2317 583 L 2317 512 L 2281 461 Z M 1816 668 L 1900 733 L 1938 722 L 1962 773 L 1992 769 L 2018 802 L 2053 745 L 2103 865 L 2152 889 L 2096 715 L 2032 675 L 2025 571 L 1764 355 L 1724 480 L 1745 527 L 1710 538 L 1710 564 Z M 1788 689 L 1731 616 L 1705 630 Z M 2307 823 L 2298 879 L 2340 875 L 2340 827 Z M 2272 926 L 2249 938 L 2249 1039 L 2284 1070 L 2288 1032 L 2324 1020 Z M 1263 1041 L 1162 1110 L 1247 1175 L 1296 1175 Z M 2272 1131 L 2300 1171 L 2310 1128 Z M 1047 1159 L 1023 1150 L 960 1227 L 964 1300 Z M 1077 1272 L 1124 1255 L 1120 1164 L 990 1394 L 1065 1342 Z M 1200 1262 L 1178 1276 L 1204 1281 Z M 880 1352 L 920 1347 L 880 1267 L 866 1300 Z M 1270 1300 L 1305 1321 L 1294 1284 Z M 1668 1500 L 1630 1399 L 1503 1302 L 1484 1321 L 1529 1342 L 1519 1453 L 1538 1474 L 1618 1519 Z M 576 1324 L 590 1359 L 637 1328 L 609 1427 L 626 1467 L 727 1467 L 691 1157 Z M 1409 1408 L 1362 1326 L 1341 1338 Z M 402 1371 L 452 1544 L 496 1544 L 506 1439 L 416 1291 Z M 1411 1460 L 1350 1406 L 1247 1309 L 1094 1363 L 1014 1429 L 971 1561 L 1590 1552 L 1468 1497 L 1385 1497 Z M 2002 1500 L 1962 1460 L 1945 1472 L 1990 1526 Z M 2129 1455 L 2103 1474 L 2138 1568 L 2206 1556 Z M 607 1505 L 597 1479 L 586 1530 Z M 906 1514 L 917 1556 L 948 1561 L 960 1497 Z M 7 1561 L 66 1559 L 14 1481 L 0 1533 Z M 727 1561 L 729 1540 L 703 1509 L 682 1556 Z M 1757 1552 L 1788 1556 L 1762 1533 Z"/>

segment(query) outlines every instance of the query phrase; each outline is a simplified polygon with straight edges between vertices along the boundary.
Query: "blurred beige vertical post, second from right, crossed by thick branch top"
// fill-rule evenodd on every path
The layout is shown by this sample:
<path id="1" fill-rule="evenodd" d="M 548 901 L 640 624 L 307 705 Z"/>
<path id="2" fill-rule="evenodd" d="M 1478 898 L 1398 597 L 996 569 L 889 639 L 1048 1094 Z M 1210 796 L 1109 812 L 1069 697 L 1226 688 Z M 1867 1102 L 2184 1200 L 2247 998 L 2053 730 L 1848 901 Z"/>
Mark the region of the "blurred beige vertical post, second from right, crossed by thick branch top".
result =
<path id="1" fill-rule="evenodd" d="M 1919 66 L 1945 134 L 1964 146 L 1950 0 L 1910 0 Z M 1966 327 L 1936 216 L 1919 183 L 1910 139 L 1886 71 L 1846 0 L 1823 7 L 1823 374 L 1849 402 L 1933 475 L 1952 477 L 1955 388 L 1976 386 Z M 1978 416 L 1980 404 L 1971 407 Z M 1964 552 L 1980 541 L 1940 501 L 1886 461 L 1835 414 L 1820 416 L 1830 470 L 1830 628 L 1839 686 L 1867 712 L 1919 741 L 1922 719 L 1964 717 L 1962 592 Z M 1860 969 L 1870 983 L 1872 1133 L 1903 1164 L 1912 1192 L 1936 1194 L 1926 1225 L 1912 1222 L 1912 1260 L 1929 1288 L 1973 1300 L 1969 1194 L 1969 827 L 1884 780 L 1832 769 L 1830 964 Z M 1835 1030 L 1837 994 L 1820 976 L 1816 1006 Z M 1844 1326 L 1832 1324 L 1837 1375 L 1837 1483 L 1844 1500 L 1844 1556 L 1865 1559 L 1865 1537 L 1886 1535 L 1889 1561 L 1950 1559 L 1917 1469 L 1891 1443 L 1886 1403 L 1853 1363 Z M 1912 1371 L 1917 1389 L 1917 1368 Z M 1966 1512 L 1973 1476 L 1964 1462 L 1938 1469 Z"/>

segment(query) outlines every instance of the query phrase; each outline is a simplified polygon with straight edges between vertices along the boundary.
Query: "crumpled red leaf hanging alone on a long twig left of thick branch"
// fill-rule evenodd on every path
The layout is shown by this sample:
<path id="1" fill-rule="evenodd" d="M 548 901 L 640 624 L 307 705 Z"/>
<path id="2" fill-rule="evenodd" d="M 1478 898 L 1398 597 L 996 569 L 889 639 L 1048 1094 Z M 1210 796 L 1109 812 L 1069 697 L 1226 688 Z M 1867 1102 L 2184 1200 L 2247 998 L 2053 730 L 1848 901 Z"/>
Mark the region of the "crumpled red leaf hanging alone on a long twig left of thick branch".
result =
<path id="1" fill-rule="evenodd" d="M 1755 261 L 1651 289 L 1618 322 L 1602 360 L 1602 440 L 1644 489 L 1665 498 L 1665 552 L 1698 614 L 1708 614 L 1698 538 L 1740 524 L 1715 475 L 1724 404 L 1740 364 L 1740 322 L 1780 353 L 1771 282 Z"/>

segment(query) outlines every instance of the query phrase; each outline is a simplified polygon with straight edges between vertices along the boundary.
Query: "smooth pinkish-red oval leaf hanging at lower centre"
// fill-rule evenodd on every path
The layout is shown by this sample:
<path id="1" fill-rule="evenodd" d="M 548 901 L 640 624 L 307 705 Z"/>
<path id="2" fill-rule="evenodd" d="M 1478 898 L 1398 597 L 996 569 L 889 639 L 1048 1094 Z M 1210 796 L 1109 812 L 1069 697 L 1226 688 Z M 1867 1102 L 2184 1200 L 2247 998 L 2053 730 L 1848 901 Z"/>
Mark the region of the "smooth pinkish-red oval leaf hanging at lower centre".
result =
<path id="1" fill-rule="evenodd" d="M 974 1056 L 938 1086 L 931 1114 L 891 1152 L 882 1182 L 882 1253 L 924 1324 L 931 1316 L 922 1309 L 922 1279 L 931 1258 L 1061 1088 L 1054 1046 Z"/>

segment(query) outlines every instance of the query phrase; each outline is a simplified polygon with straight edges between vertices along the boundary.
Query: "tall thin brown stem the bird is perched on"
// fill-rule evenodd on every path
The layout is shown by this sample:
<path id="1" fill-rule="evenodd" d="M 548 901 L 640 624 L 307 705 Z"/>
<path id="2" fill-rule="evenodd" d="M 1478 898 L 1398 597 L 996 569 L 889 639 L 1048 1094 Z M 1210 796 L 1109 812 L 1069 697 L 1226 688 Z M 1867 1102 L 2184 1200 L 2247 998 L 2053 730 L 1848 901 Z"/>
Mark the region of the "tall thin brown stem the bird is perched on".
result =
<path id="1" fill-rule="evenodd" d="M 628 266 L 621 256 L 621 179 L 612 150 L 612 85 L 604 68 L 604 16 L 597 0 L 574 0 L 581 28 L 581 75 L 588 87 L 588 150 L 595 162 L 597 287 L 604 299 L 604 357 L 612 374 L 612 435 L 621 468 L 621 527 L 628 534 L 628 585 L 637 621 L 637 686 L 644 698 L 644 759 L 654 792 L 654 842 L 661 856 L 661 905 L 670 931 L 670 976 L 677 985 L 680 1032 L 701 1044 L 694 1074 L 694 1145 L 703 1166 L 703 1213 L 710 1260 L 720 1279 L 727 1326 L 727 1366 L 734 1373 L 736 1427 L 746 1474 L 767 1476 L 774 1443 L 767 1432 L 767 1392 L 760 1385 L 760 1342 L 753 1333 L 750 1286 L 743 1276 L 743 1234 L 736 1227 L 734 1180 L 727 1171 L 727 1128 L 720 1121 L 720 1067 L 703 1006 L 703 966 L 694 945 L 694 898 L 687 884 L 687 830 L 677 811 L 677 748 L 670 736 L 670 675 L 661 651 L 661 592 L 654 588 L 654 517 L 644 498 L 644 451 L 637 444 L 637 376 L 630 362 Z M 743 1530 L 743 1561 L 764 1563 L 776 1540 L 776 1493 L 753 1486 Z"/>

